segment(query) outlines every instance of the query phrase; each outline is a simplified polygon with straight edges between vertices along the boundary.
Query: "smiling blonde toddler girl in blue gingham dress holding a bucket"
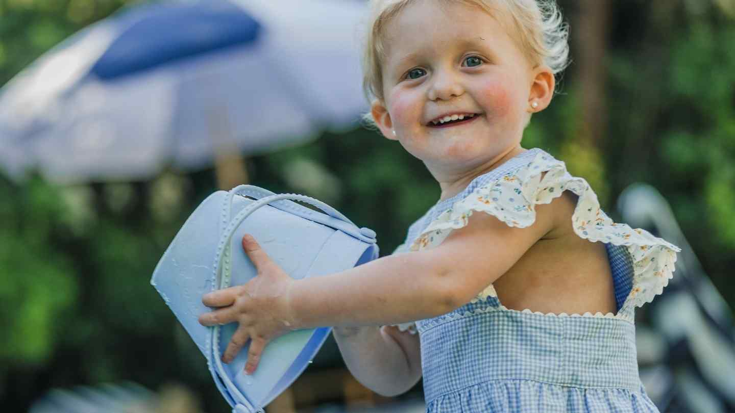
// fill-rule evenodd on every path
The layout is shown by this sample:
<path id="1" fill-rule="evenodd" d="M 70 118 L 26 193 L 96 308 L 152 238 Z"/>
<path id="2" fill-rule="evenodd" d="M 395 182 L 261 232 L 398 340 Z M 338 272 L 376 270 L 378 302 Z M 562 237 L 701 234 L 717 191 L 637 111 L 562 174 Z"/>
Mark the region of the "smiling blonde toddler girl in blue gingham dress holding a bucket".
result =
<path id="1" fill-rule="evenodd" d="M 441 198 L 395 254 L 328 276 L 295 281 L 245 236 L 259 276 L 205 295 L 221 308 L 200 319 L 240 323 L 223 360 L 249 339 L 252 373 L 273 338 L 334 326 L 375 392 L 423 375 L 428 412 L 658 412 L 634 310 L 667 285 L 679 249 L 613 223 L 564 162 L 521 146 L 567 51 L 551 0 L 373 1 L 370 118 Z"/>

